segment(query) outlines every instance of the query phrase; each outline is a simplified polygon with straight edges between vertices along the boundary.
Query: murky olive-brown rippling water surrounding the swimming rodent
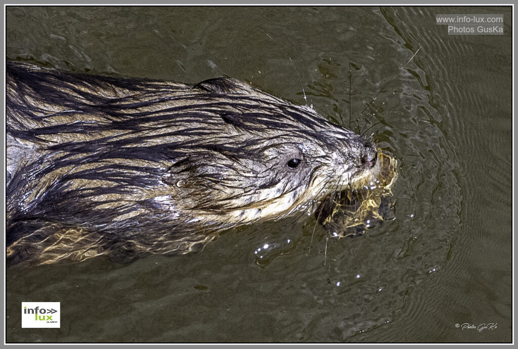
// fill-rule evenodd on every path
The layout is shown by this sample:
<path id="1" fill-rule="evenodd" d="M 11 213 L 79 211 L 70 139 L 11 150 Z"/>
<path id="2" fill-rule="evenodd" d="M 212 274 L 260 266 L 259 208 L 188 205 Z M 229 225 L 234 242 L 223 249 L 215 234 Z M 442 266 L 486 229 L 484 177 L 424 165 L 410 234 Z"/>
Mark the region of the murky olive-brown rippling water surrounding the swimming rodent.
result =
<path id="1" fill-rule="evenodd" d="M 448 36 L 439 13 L 503 13 L 506 33 Z M 346 126 L 351 67 L 352 114 L 379 122 L 400 166 L 396 219 L 361 237 L 327 241 L 307 217 L 191 255 L 12 267 L 8 342 L 511 341 L 509 7 L 8 7 L 6 21 L 10 59 L 226 74 L 300 104 L 304 90 Z M 21 328 L 22 301 L 60 301 L 61 328 Z"/>

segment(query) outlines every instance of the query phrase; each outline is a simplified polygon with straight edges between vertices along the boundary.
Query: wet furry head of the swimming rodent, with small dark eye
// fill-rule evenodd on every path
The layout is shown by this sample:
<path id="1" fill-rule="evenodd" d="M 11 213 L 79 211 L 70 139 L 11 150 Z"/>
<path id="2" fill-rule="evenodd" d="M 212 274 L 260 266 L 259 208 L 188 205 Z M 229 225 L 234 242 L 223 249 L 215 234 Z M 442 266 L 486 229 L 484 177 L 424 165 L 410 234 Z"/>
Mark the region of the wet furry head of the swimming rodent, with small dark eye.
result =
<path id="1" fill-rule="evenodd" d="M 172 186 L 160 197 L 164 207 L 180 196 L 186 209 L 205 211 L 201 217 L 249 223 L 294 213 L 328 189 L 361 186 L 376 173 L 375 146 L 311 108 L 232 79 L 195 88 L 211 106 L 191 105 L 199 113 L 188 112 L 182 141 L 167 142 L 181 154 L 163 171 Z"/>

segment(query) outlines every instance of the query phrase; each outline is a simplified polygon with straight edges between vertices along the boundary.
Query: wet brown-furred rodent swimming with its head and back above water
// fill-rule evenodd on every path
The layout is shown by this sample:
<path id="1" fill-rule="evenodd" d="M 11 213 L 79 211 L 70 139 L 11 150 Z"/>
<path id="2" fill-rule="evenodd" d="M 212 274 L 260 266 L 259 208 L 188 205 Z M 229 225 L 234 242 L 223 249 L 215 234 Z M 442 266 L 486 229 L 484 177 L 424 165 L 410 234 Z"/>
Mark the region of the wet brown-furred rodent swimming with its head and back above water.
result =
<path id="1" fill-rule="evenodd" d="M 6 71 L 11 264 L 197 251 L 379 171 L 372 142 L 234 79 Z"/>

